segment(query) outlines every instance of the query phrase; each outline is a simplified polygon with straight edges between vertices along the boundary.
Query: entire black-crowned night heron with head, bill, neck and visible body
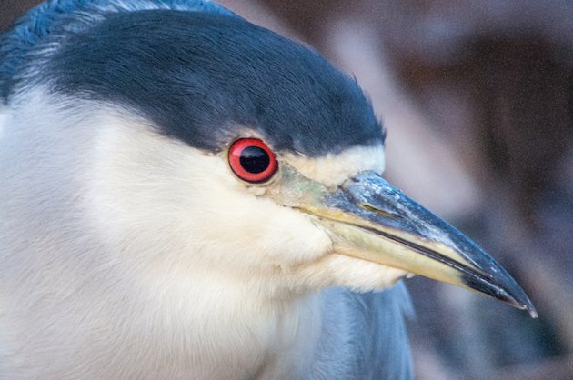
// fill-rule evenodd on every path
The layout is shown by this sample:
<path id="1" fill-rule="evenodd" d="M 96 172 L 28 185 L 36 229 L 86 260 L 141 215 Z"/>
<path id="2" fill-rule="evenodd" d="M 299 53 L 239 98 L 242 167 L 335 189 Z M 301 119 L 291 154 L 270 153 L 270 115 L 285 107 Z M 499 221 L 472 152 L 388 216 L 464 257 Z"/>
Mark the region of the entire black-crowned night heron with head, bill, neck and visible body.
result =
<path id="1" fill-rule="evenodd" d="M 2 378 L 408 377 L 408 273 L 535 314 L 382 179 L 371 105 L 307 47 L 206 1 L 61 0 L 0 52 Z"/>

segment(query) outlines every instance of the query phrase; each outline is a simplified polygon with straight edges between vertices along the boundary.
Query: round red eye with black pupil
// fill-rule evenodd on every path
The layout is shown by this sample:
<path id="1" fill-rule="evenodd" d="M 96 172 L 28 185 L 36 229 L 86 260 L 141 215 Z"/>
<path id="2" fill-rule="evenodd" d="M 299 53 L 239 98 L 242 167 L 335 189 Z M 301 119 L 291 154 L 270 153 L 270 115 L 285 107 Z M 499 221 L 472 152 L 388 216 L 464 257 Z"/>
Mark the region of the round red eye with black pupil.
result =
<path id="1" fill-rule="evenodd" d="M 246 182 L 268 181 L 278 167 L 276 155 L 258 138 L 241 138 L 229 148 L 229 165 Z"/>

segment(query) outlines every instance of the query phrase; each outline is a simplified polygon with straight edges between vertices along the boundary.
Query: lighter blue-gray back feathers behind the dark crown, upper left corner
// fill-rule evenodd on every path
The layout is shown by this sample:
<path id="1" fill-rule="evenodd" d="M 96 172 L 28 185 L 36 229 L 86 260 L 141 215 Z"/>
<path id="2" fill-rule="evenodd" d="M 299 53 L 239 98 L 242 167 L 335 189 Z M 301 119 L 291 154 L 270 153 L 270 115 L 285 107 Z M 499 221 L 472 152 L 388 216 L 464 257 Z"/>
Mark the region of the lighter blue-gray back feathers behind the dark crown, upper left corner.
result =
<path id="1" fill-rule="evenodd" d="M 35 6 L 22 16 L 15 25 L 0 36 L 0 99 L 10 94 L 15 78 L 25 68 L 27 58 L 45 45 L 48 35 L 55 33 L 62 22 L 70 28 L 80 28 L 85 18 L 118 12 L 133 12 L 146 9 L 172 9 L 190 12 L 212 12 L 235 15 L 226 8 L 209 0 L 49 0 Z"/>

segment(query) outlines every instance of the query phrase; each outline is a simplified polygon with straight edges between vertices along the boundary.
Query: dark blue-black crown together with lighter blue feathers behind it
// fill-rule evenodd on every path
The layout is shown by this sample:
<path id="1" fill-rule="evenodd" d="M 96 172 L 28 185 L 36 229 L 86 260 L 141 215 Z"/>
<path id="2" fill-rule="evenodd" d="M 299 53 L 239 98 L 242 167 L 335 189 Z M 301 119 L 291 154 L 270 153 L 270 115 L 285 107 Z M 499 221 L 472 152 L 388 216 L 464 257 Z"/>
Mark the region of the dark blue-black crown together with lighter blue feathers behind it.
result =
<path id="1" fill-rule="evenodd" d="M 125 107 L 157 132 L 220 152 L 246 126 L 277 152 L 381 145 L 356 80 L 316 51 L 196 0 L 60 0 L 5 35 L 0 91 Z"/>

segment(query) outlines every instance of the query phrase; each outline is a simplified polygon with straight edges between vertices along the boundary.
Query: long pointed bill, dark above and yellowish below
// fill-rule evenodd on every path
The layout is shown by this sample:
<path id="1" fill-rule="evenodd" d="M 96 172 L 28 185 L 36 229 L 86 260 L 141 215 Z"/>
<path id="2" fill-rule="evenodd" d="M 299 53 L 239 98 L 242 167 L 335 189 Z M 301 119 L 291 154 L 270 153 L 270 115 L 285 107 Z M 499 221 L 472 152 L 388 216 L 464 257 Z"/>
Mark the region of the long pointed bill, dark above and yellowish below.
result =
<path id="1" fill-rule="evenodd" d="M 334 191 L 291 167 L 283 176 L 290 198 L 283 201 L 316 216 L 337 253 L 490 295 L 537 317 L 528 296 L 490 255 L 380 175 L 360 173 Z"/>

